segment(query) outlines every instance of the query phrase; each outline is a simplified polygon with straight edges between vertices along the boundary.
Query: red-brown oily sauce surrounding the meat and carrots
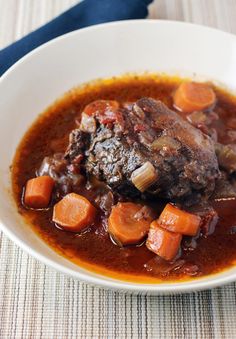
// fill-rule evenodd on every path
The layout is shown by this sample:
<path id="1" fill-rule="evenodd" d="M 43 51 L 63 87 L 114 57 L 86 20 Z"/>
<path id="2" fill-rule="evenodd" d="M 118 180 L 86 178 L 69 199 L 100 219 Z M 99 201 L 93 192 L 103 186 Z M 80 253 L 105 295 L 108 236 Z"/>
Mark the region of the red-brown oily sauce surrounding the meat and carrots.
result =
<path id="1" fill-rule="evenodd" d="M 181 260 L 185 260 L 192 270 L 190 276 L 186 274 L 186 269 L 183 271 L 178 267 L 171 271 L 168 268 L 160 269 L 163 263 L 158 262 L 156 255 L 150 252 L 145 244 L 124 248 L 116 246 L 106 231 L 105 217 L 102 213 L 98 215 L 95 225 L 81 234 L 75 234 L 63 231 L 53 224 L 52 206 L 47 210 L 33 211 L 22 205 L 22 191 L 27 180 L 35 176 L 45 156 L 65 150 L 68 135 L 76 127 L 75 119 L 85 105 L 97 99 L 111 99 L 124 103 L 149 96 L 160 99 L 173 108 L 172 94 L 179 81 L 177 78 L 168 77 L 129 76 L 72 90 L 47 109 L 24 136 L 12 166 L 13 191 L 19 213 L 40 237 L 69 260 L 97 272 L 135 282 L 143 280 L 152 282 L 153 278 L 180 280 L 190 276 L 216 273 L 234 264 L 236 260 L 234 199 L 212 202 L 219 215 L 215 232 L 208 237 L 202 236 L 197 239 L 194 250 L 182 250 Z M 227 143 L 228 129 L 236 130 L 236 122 L 235 126 L 232 126 L 236 120 L 236 100 L 220 89 L 215 88 L 215 91 L 217 95 L 215 112 L 220 117 L 215 128 L 219 141 Z M 78 192 L 87 196 L 90 201 L 95 198 L 94 192 L 85 190 L 83 186 Z M 152 202 L 153 206 L 158 213 L 163 203 L 156 200 Z"/>

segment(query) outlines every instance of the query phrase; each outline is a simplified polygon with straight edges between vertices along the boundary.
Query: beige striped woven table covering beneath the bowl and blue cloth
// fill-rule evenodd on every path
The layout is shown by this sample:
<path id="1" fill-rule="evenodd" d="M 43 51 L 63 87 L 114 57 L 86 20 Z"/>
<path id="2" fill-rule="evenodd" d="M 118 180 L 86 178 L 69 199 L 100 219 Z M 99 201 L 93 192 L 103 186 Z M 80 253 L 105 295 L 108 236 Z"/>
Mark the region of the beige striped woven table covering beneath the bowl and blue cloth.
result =
<path id="1" fill-rule="evenodd" d="M 76 0 L 0 0 L 0 48 Z M 156 0 L 151 18 L 236 33 L 236 0 Z M 220 46 L 219 46 L 220 47 Z M 236 338 L 236 285 L 177 296 L 87 286 L 0 234 L 0 338 Z"/>

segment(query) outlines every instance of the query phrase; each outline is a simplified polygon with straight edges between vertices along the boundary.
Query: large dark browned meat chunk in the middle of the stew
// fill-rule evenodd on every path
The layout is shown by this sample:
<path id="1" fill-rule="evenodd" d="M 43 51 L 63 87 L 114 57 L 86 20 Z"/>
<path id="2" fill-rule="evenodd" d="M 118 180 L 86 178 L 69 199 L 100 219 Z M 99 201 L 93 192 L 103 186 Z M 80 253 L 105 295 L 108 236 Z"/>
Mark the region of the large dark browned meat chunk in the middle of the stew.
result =
<path id="1" fill-rule="evenodd" d="M 211 195 L 219 168 L 210 137 L 150 98 L 116 108 L 116 116 L 112 123 L 102 123 L 96 111 L 96 130 L 74 130 L 65 157 L 73 162 L 83 156 L 88 174 L 129 196 L 192 204 Z M 143 180 L 142 190 L 135 171 Z"/>

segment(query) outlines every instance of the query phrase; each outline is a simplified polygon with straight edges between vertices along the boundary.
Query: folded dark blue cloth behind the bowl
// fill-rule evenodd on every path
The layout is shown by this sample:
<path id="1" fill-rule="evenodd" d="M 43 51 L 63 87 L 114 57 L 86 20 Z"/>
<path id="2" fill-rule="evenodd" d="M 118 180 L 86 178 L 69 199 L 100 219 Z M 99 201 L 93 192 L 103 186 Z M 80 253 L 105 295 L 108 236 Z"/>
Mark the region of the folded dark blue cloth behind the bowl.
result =
<path id="1" fill-rule="evenodd" d="M 46 25 L 0 50 L 0 76 L 17 60 L 43 43 L 79 28 L 127 19 L 142 19 L 152 0 L 84 0 Z"/>

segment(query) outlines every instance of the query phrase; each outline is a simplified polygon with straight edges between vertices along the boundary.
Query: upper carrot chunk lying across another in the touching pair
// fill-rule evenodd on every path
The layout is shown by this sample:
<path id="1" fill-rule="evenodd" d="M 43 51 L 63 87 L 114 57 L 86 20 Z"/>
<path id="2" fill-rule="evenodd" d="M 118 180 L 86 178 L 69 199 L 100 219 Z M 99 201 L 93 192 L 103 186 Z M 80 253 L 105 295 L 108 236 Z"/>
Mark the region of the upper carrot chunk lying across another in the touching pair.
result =
<path id="1" fill-rule="evenodd" d="M 194 236 L 199 230 L 201 218 L 198 215 L 188 213 L 171 204 L 167 204 L 158 222 L 168 231 Z"/>

